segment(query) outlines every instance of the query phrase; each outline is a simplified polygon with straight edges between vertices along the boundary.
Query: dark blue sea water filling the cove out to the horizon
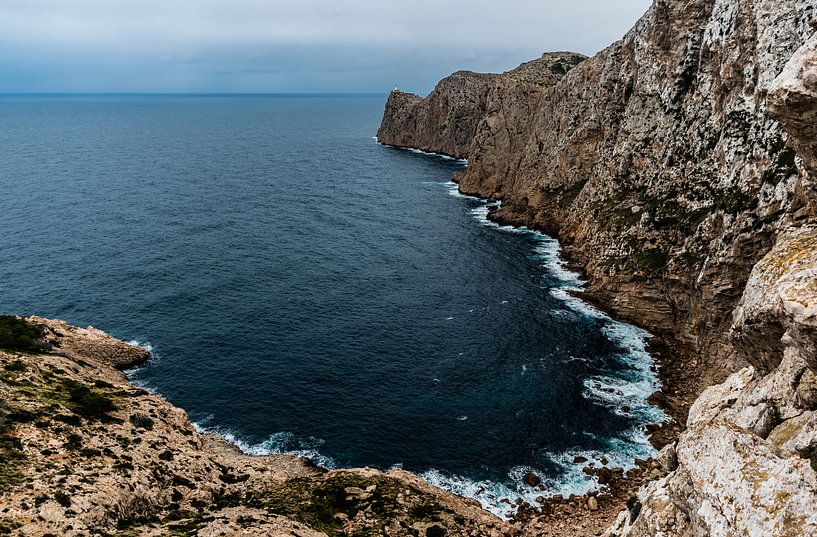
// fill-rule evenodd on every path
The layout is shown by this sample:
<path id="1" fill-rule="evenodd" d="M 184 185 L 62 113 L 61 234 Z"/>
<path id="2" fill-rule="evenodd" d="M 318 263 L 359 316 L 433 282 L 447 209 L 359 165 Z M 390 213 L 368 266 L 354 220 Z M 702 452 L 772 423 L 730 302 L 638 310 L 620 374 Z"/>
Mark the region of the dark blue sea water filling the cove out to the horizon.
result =
<path id="1" fill-rule="evenodd" d="M 149 345 L 132 381 L 249 453 L 402 466 L 496 513 L 652 453 L 647 334 L 574 298 L 383 96 L 0 97 L 0 313 Z M 625 412 L 624 407 L 632 411 Z"/>

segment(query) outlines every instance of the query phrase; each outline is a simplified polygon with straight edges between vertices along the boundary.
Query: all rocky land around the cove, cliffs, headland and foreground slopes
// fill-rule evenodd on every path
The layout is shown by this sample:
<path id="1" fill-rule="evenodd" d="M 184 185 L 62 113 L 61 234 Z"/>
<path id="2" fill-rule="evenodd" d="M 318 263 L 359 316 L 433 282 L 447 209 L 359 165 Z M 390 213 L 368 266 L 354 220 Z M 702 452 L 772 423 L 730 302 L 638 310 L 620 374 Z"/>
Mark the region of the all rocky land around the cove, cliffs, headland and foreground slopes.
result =
<path id="1" fill-rule="evenodd" d="M 243 455 L 127 383 L 144 350 L 4 317 L 0 534 L 817 535 L 815 17 L 655 0 L 592 58 L 386 104 L 381 142 L 467 157 L 463 193 L 558 237 L 583 299 L 656 334 L 657 460 L 577 460 L 600 492 L 505 522 L 408 472 Z"/>

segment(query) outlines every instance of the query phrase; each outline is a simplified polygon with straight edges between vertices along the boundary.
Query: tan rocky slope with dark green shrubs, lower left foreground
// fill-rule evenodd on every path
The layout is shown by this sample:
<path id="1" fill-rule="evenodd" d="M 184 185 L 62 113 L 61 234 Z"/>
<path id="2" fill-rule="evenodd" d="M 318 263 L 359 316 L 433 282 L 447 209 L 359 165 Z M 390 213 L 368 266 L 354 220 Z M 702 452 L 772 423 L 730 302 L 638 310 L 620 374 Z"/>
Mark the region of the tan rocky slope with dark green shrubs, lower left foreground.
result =
<path id="1" fill-rule="evenodd" d="M 327 472 L 200 434 L 129 385 L 143 349 L 30 318 L 49 351 L 0 349 L 0 534 L 513 535 L 400 470 Z"/>

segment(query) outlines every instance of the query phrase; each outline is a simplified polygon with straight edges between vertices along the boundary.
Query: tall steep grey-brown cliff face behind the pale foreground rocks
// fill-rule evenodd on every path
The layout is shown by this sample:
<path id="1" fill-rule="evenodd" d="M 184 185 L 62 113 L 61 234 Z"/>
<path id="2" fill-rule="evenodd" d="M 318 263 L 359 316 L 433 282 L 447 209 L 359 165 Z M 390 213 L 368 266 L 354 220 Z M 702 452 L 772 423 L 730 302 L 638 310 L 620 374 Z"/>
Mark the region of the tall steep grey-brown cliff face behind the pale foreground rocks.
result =
<path id="1" fill-rule="evenodd" d="M 752 360 L 730 339 L 752 267 L 780 228 L 815 214 L 810 174 L 766 110 L 814 16 L 812 0 L 656 0 L 563 77 L 496 77 L 460 190 L 558 236 L 591 296 L 701 356 L 703 385 L 722 380 Z M 431 96 L 411 99 L 422 116 Z M 405 120 L 395 100 L 381 133 Z M 762 352 L 779 355 L 780 335 Z"/>

